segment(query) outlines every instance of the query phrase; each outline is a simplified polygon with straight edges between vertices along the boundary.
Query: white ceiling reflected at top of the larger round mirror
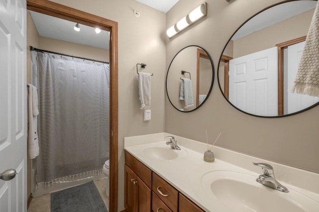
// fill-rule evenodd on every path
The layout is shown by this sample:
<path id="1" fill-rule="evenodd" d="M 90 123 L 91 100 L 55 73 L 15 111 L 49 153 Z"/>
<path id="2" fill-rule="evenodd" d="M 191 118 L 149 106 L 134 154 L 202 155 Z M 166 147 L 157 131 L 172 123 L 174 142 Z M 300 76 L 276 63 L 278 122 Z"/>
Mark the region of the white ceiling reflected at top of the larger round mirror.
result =
<path id="1" fill-rule="evenodd" d="M 250 19 L 236 32 L 232 37 L 232 40 L 237 40 L 295 15 L 306 12 L 315 8 L 316 5 L 317 1 L 314 0 L 300 0 L 290 1 L 271 7 Z"/>

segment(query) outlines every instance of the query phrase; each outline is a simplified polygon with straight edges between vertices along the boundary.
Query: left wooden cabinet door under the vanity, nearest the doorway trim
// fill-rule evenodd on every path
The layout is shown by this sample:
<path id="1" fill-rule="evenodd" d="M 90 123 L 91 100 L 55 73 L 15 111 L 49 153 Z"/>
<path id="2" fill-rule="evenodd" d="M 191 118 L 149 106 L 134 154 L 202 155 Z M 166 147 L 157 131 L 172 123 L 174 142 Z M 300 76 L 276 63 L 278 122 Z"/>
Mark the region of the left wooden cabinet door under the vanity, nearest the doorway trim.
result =
<path id="1" fill-rule="evenodd" d="M 135 212 L 136 204 L 135 204 L 135 190 L 136 186 L 133 183 L 135 179 L 135 173 L 125 164 L 125 180 L 124 180 L 124 207 L 126 212 Z"/>

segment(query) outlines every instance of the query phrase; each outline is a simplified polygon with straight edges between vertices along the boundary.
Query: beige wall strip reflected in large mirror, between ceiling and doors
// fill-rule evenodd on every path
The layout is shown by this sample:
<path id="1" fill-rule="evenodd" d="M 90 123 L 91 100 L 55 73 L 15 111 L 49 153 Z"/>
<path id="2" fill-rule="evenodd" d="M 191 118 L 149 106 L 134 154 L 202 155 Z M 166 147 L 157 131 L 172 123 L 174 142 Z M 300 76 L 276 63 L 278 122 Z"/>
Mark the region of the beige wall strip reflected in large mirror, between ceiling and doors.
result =
<path id="1" fill-rule="evenodd" d="M 311 9 L 235 40 L 233 58 L 269 49 L 276 44 L 307 35 L 314 11 L 315 9 Z"/>

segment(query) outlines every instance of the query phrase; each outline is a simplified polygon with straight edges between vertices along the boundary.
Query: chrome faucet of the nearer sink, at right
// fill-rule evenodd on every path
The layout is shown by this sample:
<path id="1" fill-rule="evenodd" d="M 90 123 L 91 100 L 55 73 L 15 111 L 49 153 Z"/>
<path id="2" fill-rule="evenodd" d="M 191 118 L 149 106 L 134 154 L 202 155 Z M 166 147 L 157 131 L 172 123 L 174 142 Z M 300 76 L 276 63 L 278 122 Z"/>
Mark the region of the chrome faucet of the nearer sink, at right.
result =
<path id="1" fill-rule="evenodd" d="M 285 193 L 289 192 L 289 190 L 285 186 L 283 186 L 276 180 L 274 169 L 271 165 L 267 163 L 253 163 L 253 164 L 256 166 L 261 166 L 264 172 L 264 174 L 259 175 L 259 177 L 256 179 L 258 183 L 261 183 L 264 186 L 267 186 L 272 189 L 276 189 L 281 192 L 285 192 Z"/>

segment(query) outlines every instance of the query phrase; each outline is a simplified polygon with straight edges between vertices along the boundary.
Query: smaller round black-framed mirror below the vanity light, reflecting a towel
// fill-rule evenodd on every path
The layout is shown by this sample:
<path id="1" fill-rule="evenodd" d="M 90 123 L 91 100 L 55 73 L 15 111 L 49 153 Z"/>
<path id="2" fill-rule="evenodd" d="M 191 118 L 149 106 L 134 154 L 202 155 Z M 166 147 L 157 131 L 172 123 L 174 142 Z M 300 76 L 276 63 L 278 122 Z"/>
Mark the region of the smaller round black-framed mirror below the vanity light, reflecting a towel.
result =
<path id="1" fill-rule="evenodd" d="M 181 49 L 172 59 L 166 75 L 166 93 L 181 112 L 199 108 L 208 98 L 214 81 L 213 61 L 196 45 Z"/>

